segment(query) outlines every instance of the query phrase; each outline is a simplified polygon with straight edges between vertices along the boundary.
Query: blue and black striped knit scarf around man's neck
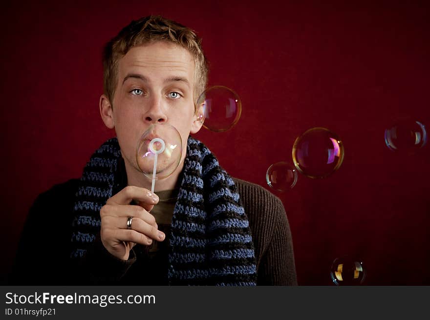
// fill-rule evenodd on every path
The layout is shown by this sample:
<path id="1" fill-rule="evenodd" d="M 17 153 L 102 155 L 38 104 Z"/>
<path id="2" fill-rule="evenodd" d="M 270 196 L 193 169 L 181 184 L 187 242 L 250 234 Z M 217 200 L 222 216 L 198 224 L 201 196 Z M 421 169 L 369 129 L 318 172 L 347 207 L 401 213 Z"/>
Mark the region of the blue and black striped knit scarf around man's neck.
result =
<path id="1" fill-rule="evenodd" d="M 100 231 L 100 208 L 125 187 L 120 159 L 113 138 L 86 164 L 74 206 L 72 259 L 85 255 Z M 169 284 L 256 285 L 254 246 L 236 185 L 211 151 L 191 137 L 169 241 Z"/>

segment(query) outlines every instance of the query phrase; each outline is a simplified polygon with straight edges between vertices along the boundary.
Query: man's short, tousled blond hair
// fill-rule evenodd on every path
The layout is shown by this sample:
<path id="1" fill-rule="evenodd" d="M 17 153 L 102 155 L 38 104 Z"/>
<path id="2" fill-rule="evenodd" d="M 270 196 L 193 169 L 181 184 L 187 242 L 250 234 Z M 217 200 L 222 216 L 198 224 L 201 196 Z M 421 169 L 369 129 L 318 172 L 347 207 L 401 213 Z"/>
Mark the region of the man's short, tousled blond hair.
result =
<path id="1" fill-rule="evenodd" d="M 103 85 L 109 101 L 113 101 L 118 81 L 118 62 L 135 46 L 166 41 L 187 49 L 194 59 L 194 105 L 208 82 L 208 62 L 201 39 L 193 30 L 161 16 L 133 20 L 110 40 L 103 50 Z"/>

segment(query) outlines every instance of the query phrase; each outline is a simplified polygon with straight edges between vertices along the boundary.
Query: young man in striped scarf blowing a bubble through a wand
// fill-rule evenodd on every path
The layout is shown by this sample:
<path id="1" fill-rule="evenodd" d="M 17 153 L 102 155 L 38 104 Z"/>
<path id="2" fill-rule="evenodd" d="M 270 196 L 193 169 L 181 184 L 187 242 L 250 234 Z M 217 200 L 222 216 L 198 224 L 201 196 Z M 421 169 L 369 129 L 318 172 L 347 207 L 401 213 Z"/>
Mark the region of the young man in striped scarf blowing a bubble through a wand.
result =
<path id="1" fill-rule="evenodd" d="M 281 201 L 231 178 L 190 137 L 202 126 L 196 101 L 207 84 L 194 32 L 158 16 L 132 21 L 108 42 L 103 64 L 100 114 L 116 138 L 80 180 L 35 201 L 10 283 L 296 285 Z M 184 145 L 152 193 L 135 153 L 154 124 L 176 128 Z"/>

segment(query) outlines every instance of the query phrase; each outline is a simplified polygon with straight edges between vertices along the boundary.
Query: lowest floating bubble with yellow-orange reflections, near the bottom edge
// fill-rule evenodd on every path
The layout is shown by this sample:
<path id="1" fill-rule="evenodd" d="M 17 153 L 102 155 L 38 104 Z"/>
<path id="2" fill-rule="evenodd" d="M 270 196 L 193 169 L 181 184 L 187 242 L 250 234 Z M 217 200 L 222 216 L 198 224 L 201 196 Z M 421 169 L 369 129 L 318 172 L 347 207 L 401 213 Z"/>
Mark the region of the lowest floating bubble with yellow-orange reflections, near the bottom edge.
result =
<path id="1" fill-rule="evenodd" d="M 366 278 L 366 270 L 363 261 L 346 255 L 333 261 L 330 277 L 336 285 L 360 285 Z"/>

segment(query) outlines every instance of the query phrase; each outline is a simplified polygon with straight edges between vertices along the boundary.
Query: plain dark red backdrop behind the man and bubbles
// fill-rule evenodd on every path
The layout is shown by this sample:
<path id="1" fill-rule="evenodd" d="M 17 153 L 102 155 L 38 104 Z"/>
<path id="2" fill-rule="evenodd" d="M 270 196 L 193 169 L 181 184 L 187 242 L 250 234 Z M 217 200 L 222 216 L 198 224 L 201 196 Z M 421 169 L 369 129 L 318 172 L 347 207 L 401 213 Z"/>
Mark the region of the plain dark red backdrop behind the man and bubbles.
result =
<path id="1" fill-rule="evenodd" d="M 343 141 L 333 175 L 273 191 L 288 212 L 299 284 L 330 285 L 344 254 L 361 257 L 364 284 L 430 284 L 430 145 L 396 154 L 384 142 L 397 120 L 430 123 L 426 1 L 33 2 L 1 8 L 3 279 L 35 197 L 80 177 L 113 135 L 98 111 L 102 46 L 130 20 L 161 14 L 197 31 L 210 84 L 242 100 L 232 130 L 196 135 L 233 176 L 270 189 L 267 168 L 291 162 L 305 130 L 323 126 Z M 40 255 L 49 259 L 49 243 Z"/>

